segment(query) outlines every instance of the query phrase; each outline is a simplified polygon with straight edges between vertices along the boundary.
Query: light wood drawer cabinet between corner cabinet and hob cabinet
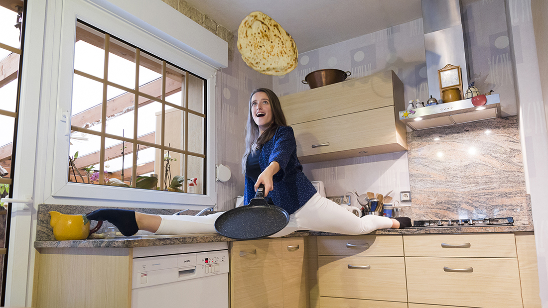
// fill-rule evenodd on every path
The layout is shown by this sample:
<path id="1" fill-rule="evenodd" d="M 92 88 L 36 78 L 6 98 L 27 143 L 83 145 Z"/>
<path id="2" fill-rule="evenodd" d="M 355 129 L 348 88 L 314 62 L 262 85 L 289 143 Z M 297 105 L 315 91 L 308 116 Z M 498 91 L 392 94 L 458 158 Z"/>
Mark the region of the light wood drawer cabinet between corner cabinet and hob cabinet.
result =
<path id="1" fill-rule="evenodd" d="M 317 242 L 322 308 L 407 306 L 401 235 L 322 236 Z"/>

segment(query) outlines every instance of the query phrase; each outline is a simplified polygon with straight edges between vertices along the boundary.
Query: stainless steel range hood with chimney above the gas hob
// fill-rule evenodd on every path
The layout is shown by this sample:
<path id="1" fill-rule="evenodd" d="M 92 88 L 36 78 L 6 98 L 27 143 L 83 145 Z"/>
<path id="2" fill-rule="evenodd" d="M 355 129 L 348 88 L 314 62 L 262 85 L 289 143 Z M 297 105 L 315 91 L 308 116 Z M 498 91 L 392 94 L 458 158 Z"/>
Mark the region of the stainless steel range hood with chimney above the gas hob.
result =
<path id="1" fill-rule="evenodd" d="M 438 69 L 458 65 L 461 68 L 463 91 L 468 88 L 467 57 L 464 47 L 464 28 L 461 20 L 459 0 L 421 0 L 423 8 L 424 44 L 429 95 L 441 98 Z M 461 93 L 464 97 L 465 93 Z M 498 118 L 500 98 L 498 94 L 487 95 L 487 103 L 478 108 L 471 98 L 456 102 L 421 107 L 399 112 L 411 130 L 456 125 L 472 121 Z"/>

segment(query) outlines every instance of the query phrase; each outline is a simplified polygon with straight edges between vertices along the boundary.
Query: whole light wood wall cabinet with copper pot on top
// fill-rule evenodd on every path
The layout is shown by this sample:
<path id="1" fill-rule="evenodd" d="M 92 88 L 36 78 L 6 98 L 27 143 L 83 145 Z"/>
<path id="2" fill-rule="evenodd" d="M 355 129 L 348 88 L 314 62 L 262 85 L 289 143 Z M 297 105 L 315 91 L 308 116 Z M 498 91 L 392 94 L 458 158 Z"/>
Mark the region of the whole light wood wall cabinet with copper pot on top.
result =
<path id="1" fill-rule="evenodd" d="M 407 150 L 403 83 L 392 71 L 279 100 L 304 164 Z"/>

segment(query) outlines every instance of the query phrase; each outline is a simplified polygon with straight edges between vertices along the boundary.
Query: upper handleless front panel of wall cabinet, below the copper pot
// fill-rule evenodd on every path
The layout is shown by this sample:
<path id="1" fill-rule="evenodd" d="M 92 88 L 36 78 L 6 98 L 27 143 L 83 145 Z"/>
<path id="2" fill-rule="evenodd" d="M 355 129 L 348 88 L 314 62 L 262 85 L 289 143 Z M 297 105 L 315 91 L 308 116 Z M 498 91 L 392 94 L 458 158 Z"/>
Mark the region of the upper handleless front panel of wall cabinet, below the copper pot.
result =
<path id="1" fill-rule="evenodd" d="M 391 71 L 322 86 L 279 97 L 287 124 L 294 125 L 338 115 L 392 106 L 394 94 Z M 396 82 L 401 83 L 399 80 Z M 403 94 L 403 91 L 402 91 Z M 402 100 L 403 101 L 403 100 Z M 310 103 L 315 108 L 310 108 Z M 302 111 L 306 112 L 302 112 Z"/>

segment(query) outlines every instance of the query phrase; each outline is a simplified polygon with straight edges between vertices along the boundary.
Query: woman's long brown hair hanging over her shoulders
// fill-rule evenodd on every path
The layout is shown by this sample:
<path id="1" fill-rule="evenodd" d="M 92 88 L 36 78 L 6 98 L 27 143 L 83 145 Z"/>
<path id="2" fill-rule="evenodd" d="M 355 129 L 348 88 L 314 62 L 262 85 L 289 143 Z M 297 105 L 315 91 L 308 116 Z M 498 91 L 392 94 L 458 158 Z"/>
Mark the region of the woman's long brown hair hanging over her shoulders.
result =
<path id="1" fill-rule="evenodd" d="M 256 92 L 265 92 L 269 97 L 270 109 L 273 117 L 272 124 L 270 124 L 270 126 L 262 132 L 262 134 L 259 132 L 259 126 L 253 120 L 253 115 L 251 113 L 251 99 Z M 286 116 L 283 115 L 282 106 L 279 103 L 278 96 L 276 96 L 276 94 L 270 89 L 259 88 L 253 91 L 253 93 L 249 96 L 248 107 L 249 113 L 247 114 L 246 125 L 246 152 L 244 152 L 242 158 L 243 175 L 246 175 L 247 156 L 249 156 L 253 150 L 260 149 L 263 144 L 271 140 L 272 137 L 274 137 L 278 126 L 287 126 Z"/>

